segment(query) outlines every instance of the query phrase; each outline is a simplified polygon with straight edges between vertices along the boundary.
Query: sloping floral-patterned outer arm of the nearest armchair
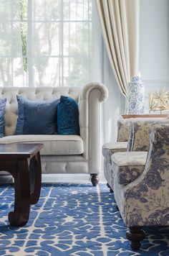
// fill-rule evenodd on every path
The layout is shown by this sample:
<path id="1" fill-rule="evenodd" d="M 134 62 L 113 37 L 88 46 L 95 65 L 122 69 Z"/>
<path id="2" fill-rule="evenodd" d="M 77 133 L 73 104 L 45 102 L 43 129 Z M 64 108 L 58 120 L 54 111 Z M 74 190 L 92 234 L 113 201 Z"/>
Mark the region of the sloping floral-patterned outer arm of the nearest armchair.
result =
<path id="1" fill-rule="evenodd" d="M 153 126 L 142 175 L 124 189 L 128 227 L 169 224 L 169 124 Z"/>

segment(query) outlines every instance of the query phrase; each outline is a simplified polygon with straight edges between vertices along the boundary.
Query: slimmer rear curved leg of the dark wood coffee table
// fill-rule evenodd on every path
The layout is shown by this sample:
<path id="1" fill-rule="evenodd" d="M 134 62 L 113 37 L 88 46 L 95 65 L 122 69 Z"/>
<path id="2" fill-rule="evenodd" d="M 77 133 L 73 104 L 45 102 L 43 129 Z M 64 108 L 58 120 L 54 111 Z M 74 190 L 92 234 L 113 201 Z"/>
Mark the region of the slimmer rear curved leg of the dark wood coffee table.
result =
<path id="1" fill-rule="evenodd" d="M 37 154 L 30 160 L 29 177 L 31 188 L 30 204 L 37 204 L 41 193 L 42 180 L 41 159 L 39 152 L 37 152 Z"/>

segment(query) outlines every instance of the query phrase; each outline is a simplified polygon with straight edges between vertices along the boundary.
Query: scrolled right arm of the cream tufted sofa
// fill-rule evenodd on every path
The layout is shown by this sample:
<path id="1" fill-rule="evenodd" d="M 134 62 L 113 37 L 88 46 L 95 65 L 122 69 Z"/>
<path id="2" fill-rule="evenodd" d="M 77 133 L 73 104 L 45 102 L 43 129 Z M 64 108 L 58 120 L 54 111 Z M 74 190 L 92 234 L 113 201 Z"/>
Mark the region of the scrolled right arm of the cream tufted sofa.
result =
<path id="1" fill-rule="evenodd" d="M 100 171 L 100 103 L 106 101 L 108 91 L 102 83 L 88 83 L 79 99 L 80 136 L 84 142 L 84 158 L 89 173 Z"/>

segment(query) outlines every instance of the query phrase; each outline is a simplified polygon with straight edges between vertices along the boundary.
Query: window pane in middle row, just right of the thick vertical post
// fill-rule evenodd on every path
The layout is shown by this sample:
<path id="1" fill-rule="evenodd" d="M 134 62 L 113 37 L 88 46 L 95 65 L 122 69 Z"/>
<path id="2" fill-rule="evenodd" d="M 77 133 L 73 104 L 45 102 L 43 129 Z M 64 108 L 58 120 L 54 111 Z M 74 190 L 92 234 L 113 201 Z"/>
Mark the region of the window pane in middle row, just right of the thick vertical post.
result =
<path id="1" fill-rule="evenodd" d="M 59 55 L 59 24 L 34 23 L 34 55 Z"/>

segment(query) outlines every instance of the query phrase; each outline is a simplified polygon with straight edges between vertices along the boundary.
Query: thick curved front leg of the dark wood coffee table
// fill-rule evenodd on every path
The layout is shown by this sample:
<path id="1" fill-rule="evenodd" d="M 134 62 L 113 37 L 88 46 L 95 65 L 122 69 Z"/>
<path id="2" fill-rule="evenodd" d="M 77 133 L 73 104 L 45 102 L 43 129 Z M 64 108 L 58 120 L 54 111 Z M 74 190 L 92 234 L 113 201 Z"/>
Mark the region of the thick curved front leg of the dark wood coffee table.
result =
<path id="1" fill-rule="evenodd" d="M 19 159 L 16 164 L 14 212 L 9 212 L 9 223 L 12 226 L 24 226 L 29 220 L 30 210 L 29 168 L 26 159 Z"/>

